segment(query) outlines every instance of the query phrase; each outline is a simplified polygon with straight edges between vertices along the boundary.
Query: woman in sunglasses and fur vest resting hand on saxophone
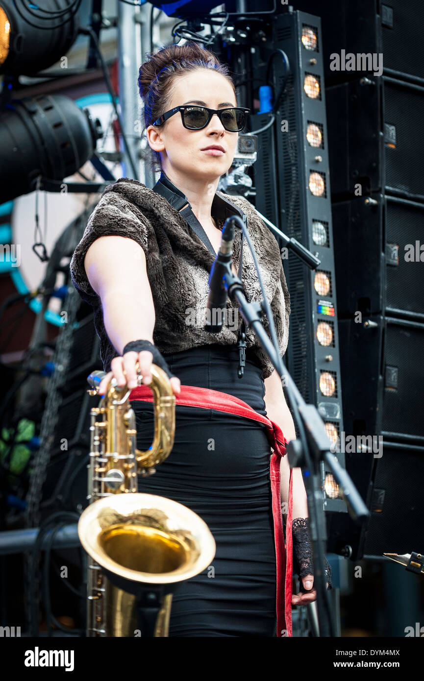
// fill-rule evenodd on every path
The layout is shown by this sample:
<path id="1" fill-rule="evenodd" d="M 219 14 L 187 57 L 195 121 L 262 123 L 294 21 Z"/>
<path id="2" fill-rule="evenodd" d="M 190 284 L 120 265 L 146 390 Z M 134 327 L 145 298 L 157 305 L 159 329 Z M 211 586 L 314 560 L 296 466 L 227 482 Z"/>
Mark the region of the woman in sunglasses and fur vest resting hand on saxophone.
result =
<path id="1" fill-rule="evenodd" d="M 162 171 L 158 186 L 164 193 L 125 178 L 108 187 L 72 258 L 72 279 L 95 308 L 108 371 L 100 393 L 112 376 L 119 385 L 135 388 L 137 364 L 142 383 L 148 385 L 154 362 L 166 368 L 177 396 L 175 445 L 154 475 L 140 479 L 138 489 L 172 498 L 198 513 L 211 529 L 217 551 L 209 569 L 179 586 L 172 599 L 169 635 L 282 635 L 276 632 L 275 620 L 267 434 L 249 418 L 178 404 L 181 384 L 215 390 L 267 415 L 287 441 L 296 437 L 282 381 L 250 329 L 245 332 L 247 349 L 239 378 L 241 315 L 237 318 L 236 314 L 236 324 L 224 323 L 217 334 L 207 332 L 199 322 L 199 313 L 203 317 L 205 313 L 209 272 L 224 221 L 234 213 L 245 215 L 284 354 L 290 299 L 279 248 L 252 204 L 242 197 L 217 193 L 219 177 L 232 165 L 238 133 L 246 120 L 243 111 L 237 110 L 234 83 L 226 67 L 197 44 L 170 46 L 148 56 L 140 67 L 138 84 L 145 101 L 147 139 Z M 187 212 L 181 208 L 185 200 L 204 230 L 206 245 L 185 219 Z M 183 215 L 172 206 L 179 206 Z M 247 244 L 241 251 L 237 229 L 232 270 L 237 273 L 242 264 L 247 298 L 260 300 Z M 227 311 L 237 313 L 237 306 L 228 301 Z M 228 314 L 230 318 L 234 319 Z M 153 406 L 137 400 L 136 390 L 130 399 L 136 412 L 137 446 L 147 449 L 153 433 Z M 281 499 L 287 502 L 290 469 L 286 457 L 280 472 Z M 303 605 L 314 601 L 316 592 L 305 487 L 300 469 L 292 475 L 294 559 L 300 562 L 303 583 L 301 593 L 292 595 L 292 604 Z M 326 573 L 331 586 L 330 573 Z"/>

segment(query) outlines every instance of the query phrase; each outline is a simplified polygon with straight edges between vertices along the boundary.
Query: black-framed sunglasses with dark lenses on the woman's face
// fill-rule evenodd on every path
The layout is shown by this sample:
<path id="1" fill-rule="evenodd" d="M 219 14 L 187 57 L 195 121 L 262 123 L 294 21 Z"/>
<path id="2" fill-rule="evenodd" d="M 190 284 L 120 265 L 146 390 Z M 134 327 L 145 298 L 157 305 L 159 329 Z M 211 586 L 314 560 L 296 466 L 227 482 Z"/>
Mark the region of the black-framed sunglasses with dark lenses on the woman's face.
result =
<path id="1" fill-rule="evenodd" d="M 181 112 L 183 126 L 187 130 L 202 130 L 211 120 L 213 114 L 217 114 L 224 128 L 230 132 L 240 132 L 247 122 L 247 114 L 250 109 L 241 106 L 228 106 L 225 109 L 208 109 L 207 106 L 175 106 L 157 118 L 153 125 L 162 125 L 171 116 Z"/>

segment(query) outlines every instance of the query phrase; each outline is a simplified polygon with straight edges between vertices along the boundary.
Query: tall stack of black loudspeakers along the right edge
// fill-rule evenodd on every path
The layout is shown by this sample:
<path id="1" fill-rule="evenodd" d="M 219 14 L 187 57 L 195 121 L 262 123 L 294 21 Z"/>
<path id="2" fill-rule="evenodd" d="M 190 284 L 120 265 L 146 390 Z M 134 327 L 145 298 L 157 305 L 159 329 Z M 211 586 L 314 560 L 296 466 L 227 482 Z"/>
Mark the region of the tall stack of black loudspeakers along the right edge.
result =
<path id="1" fill-rule="evenodd" d="M 329 0 L 319 10 L 344 425 L 357 443 L 346 468 L 371 511 L 362 528 L 334 515 L 329 548 L 421 552 L 424 5 Z"/>

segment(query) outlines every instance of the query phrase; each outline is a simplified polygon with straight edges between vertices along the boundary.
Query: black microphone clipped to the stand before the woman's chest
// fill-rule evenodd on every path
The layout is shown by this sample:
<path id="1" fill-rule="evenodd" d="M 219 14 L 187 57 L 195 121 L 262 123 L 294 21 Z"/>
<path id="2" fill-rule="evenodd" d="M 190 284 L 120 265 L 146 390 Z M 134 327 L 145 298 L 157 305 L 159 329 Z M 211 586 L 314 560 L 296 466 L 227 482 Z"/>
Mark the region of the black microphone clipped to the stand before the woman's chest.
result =
<path id="1" fill-rule="evenodd" d="M 217 257 L 209 275 L 209 296 L 206 307 L 205 329 L 211 334 L 218 334 L 222 329 L 222 311 L 226 309 L 227 290 L 224 285 L 224 274 L 232 263 L 232 244 L 234 242 L 234 221 L 226 219 L 222 228 L 222 238 Z M 217 311 L 219 313 L 217 314 Z"/>

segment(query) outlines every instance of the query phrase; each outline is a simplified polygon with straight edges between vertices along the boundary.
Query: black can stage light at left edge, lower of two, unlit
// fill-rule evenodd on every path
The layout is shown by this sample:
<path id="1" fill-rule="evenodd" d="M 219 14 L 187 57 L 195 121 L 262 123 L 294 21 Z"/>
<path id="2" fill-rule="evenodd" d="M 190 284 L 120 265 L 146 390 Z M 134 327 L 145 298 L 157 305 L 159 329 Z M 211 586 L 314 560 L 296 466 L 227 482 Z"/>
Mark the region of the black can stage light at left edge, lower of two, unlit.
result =
<path id="1" fill-rule="evenodd" d="M 88 161 L 100 124 L 63 95 L 12 100 L 0 115 L 0 204 L 63 180 Z"/>

